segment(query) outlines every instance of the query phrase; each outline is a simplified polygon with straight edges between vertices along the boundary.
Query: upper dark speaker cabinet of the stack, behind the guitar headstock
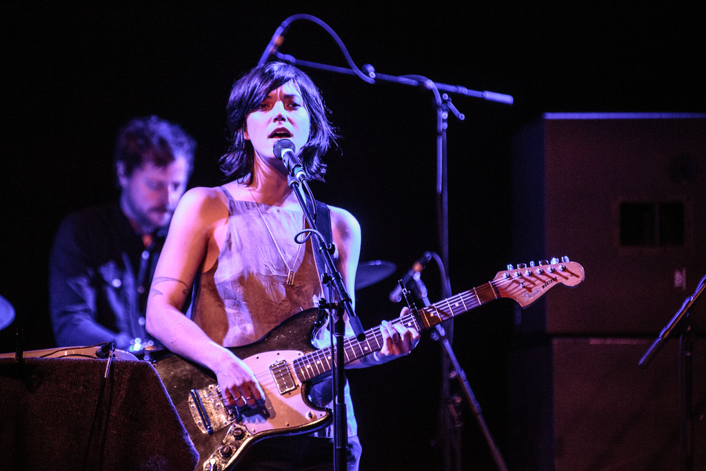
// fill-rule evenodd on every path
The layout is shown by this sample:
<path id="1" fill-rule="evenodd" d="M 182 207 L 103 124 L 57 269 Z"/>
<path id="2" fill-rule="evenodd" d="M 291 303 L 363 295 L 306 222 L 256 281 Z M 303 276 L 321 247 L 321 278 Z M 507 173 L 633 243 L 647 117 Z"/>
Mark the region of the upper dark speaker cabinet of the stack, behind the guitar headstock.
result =
<path id="1" fill-rule="evenodd" d="M 706 274 L 706 115 L 545 114 L 517 136 L 513 174 L 518 260 L 586 273 L 526 328 L 659 333 Z"/>

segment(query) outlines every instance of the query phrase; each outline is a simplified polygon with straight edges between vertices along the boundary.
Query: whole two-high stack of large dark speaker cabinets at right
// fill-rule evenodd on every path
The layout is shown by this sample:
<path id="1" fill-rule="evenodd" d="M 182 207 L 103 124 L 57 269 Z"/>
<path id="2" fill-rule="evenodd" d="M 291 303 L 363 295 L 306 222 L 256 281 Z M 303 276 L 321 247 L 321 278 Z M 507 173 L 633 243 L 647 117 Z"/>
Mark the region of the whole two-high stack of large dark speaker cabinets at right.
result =
<path id="1" fill-rule="evenodd" d="M 706 114 L 544 114 L 516 136 L 513 178 L 517 260 L 568 256 L 585 280 L 517 311 L 508 461 L 678 470 L 678 338 L 638 361 L 706 275 Z M 706 299 L 691 316 L 706 469 Z"/>

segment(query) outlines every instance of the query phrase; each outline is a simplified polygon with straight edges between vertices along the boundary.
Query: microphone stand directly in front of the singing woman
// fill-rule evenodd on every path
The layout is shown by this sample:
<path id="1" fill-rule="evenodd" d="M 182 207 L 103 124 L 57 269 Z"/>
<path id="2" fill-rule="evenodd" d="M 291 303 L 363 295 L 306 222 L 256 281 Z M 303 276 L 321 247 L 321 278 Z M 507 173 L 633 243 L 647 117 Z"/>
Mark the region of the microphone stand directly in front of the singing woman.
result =
<path id="1" fill-rule="evenodd" d="M 303 186 L 306 187 L 306 192 L 311 197 L 312 205 L 315 205 L 313 195 L 311 194 L 311 189 L 306 181 L 303 181 Z M 333 244 L 328 246 L 323 234 L 318 231 L 316 226 L 316 217 L 311 214 L 309 210 L 309 205 L 306 204 L 303 193 L 299 187 L 299 181 L 294 175 L 290 174 L 287 177 L 287 185 L 292 189 L 294 194 L 297 196 L 297 201 L 301 206 L 301 210 L 304 211 L 304 217 L 309 223 L 309 229 L 306 229 L 310 234 L 316 235 L 318 239 L 318 251 L 321 253 L 323 258 L 324 267 L 321 267 L 322 284 L 328 287 L 328 292 L 338 299 L 337 302 L 327 303 L 325 299 L 322 299 L 319 303 L 319 308 L 321 311 L 328 310 L 329 318 L 331 320 L 331 331 L 333 332 L 333 393 L 334 393 L 334 410 L 333 410 L 333 425 L 334 425 L 334 469 L 335 470 L 345 470 L 347 466 L 347 454 L 346 446 L 348 442 L 348 427 L 347 427 L 347 417 L 346 417 L 346 405 L 345 405 L 345 319 L 343 314 L 348 314 L 348 320 L 353 328 L 353 332 L 359 341 L 365 340 L 365 332 L 363 326 L 360 322 L 360 318 L 355 314 L 352 306 L 352 300 L 346 292 L 345 286 L 343 285 L 343 280 L 341 274 L 336 270 L 335 263 L 333 261 L 332 254 L 334 253 Z M 299 241 L 297 241 L 299 242 Z M 302 242 L 304 243 L 304 242 Z M 312 246 L 314 246 L 312 240 Z M 313 247 L 315 250 L 316 247 Z M 335 345 L 333 345 L 335 344 Z"/>

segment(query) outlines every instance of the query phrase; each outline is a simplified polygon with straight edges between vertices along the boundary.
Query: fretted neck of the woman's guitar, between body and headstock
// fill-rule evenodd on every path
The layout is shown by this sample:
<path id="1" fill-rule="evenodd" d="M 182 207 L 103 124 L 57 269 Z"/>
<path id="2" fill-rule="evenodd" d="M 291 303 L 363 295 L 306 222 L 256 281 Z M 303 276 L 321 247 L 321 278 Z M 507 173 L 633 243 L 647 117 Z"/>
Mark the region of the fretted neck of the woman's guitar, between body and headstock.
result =
<path id="1" fill-rule="evenodd" d="M 417 312 L 410 311 L 406 316 L 396 318 L 391 322 L 393 324 L 399 323 L 407 328 L 414 328 L 421 332 L 481 306 L 481 304 L 498 299 L 498 297 L 498 292 L 496 292 L 491 282 L 488 282 L 473 290 L 455 294 L 440 302 L 425 306 L 418 309 Z M 383 334 L 380 326 L 366 330 L 365 340 L 357 340 L 355 337 L 346 338 L 343 341 L 343 348 L 345 364 L 349 364 L 367 354 L 382 350 Z M 299 380 L 302 382 L 311 381 L 317 376 L 330 372 L 333 369 L 334 355 L 332 352 L 335 352 L 335 349 L 326 347 L 295 359 L 294 372 L 299 377 Z"/>

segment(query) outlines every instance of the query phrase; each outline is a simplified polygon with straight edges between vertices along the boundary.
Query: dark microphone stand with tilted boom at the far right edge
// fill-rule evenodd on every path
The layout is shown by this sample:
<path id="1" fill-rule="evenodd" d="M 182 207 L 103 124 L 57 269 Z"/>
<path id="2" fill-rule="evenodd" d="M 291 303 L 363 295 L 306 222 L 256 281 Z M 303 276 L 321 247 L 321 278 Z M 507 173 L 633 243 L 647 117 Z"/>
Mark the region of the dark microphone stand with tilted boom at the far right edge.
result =
<path id="1" fill-rule="evenodd" d="M 671 321 L 657 335 L 650 348 L 647 349 L 638 364 L 643 368 L 652 362 L 654 356 L 662 348 L 674 332 L 679 333 L 679 445 L 681 451 L 681 471 L 691 471 L 694 466 L 693 443 L 693 413 L 692 413 L 692 372 L 693 352 L 696 339 L 695 328 L 690 319 L 691 306 L 706 288 L 706 275 L 701 278 L 696 291 L 686 298 L 681 309 L 671 318 Z"/>

